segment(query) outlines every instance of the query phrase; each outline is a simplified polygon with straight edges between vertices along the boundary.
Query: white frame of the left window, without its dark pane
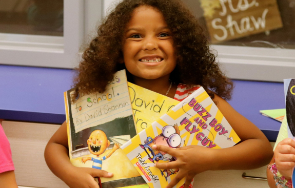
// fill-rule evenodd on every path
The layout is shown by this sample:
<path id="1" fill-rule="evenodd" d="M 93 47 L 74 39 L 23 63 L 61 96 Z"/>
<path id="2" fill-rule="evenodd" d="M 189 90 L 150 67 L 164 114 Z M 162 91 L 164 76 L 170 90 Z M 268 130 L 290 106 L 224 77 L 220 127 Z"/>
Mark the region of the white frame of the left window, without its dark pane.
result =
<path id="1" fill-rule="evenodd" d="M 73 68 L 84 37 L 84 1 L 64 0 L 64 36 L 0 34 L 0 64 Z"/>

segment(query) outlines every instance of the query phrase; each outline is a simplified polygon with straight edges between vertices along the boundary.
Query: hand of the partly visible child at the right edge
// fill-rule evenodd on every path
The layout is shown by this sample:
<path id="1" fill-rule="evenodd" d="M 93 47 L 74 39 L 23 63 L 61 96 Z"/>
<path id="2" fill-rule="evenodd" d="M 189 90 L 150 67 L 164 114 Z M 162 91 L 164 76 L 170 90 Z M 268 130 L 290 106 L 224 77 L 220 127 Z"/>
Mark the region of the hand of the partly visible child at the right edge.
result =
<path id="1" fill-rule="evenodd" d="M 278 171 L 286 179 L 291 179 L 292 168 L 295 165 L 295 141 L 286 138 L 279 142 L 274 150 L 274 158 Z"/>

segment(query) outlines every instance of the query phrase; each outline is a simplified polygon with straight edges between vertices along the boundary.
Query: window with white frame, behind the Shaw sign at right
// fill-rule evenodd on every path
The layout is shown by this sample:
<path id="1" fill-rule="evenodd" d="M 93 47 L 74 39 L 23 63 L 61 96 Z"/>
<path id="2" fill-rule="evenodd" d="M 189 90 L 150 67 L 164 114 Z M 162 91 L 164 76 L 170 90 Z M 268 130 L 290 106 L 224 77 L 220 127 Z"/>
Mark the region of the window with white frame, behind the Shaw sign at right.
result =
<path id="1" fill-rule="evenodd" d="M 295 73 L 295 1 L 183 0 L 227 76 L 280 81 Z"/>

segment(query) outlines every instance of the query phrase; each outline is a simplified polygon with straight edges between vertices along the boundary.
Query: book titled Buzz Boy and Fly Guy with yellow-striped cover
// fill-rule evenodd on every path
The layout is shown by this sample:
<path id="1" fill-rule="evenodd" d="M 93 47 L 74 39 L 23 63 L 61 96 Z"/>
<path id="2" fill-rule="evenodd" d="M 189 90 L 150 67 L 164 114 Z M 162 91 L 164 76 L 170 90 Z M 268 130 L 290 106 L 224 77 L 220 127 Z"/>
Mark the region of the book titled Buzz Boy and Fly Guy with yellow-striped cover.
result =
<path id="1" fill-rule="evenodd" d="M 171 148 L 192 144 L 219 149 L 232 147 L 239 141 L 239 136 L 201 87 L 121 148 L 148 186 L 153 188 L 166 187 L 177 174 L 175 169 L 162 171 L 153 166 L 155 162 L 175 160 L 169 154 L 151 149 L 153 144 Z M 182 179 L 176 188 L 184 182 Z"/>

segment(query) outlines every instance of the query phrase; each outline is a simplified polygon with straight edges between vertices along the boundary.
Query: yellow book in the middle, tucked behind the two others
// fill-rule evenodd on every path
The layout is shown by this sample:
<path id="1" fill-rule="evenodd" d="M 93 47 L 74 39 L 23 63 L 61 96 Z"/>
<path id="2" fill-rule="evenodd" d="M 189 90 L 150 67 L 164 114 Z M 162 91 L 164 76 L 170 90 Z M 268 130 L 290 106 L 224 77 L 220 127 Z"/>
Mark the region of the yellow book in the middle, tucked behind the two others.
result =
<path id="1" fill-rule="evenodd" d="M 165 95 L 142 88 L 128 82 L 137 132 L 141 132 L 155 120 L 179 103 Z"/>

